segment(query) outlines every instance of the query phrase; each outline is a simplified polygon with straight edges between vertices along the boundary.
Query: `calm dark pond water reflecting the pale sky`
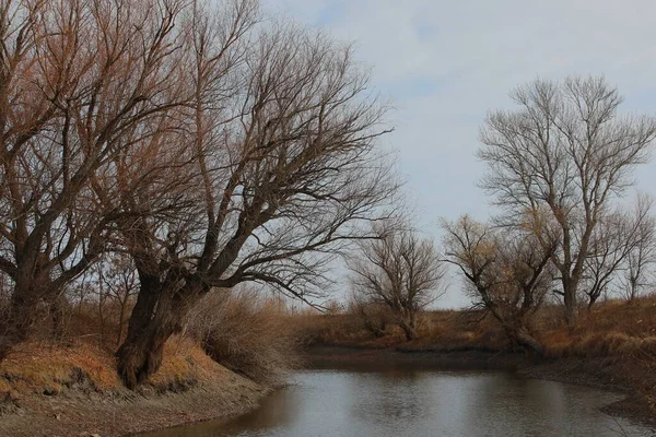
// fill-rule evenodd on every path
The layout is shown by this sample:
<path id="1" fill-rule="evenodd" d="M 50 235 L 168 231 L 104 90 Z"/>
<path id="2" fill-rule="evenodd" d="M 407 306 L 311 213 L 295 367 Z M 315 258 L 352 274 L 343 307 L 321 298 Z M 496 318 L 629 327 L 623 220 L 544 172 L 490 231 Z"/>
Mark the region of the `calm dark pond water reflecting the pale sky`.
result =
<path id="1" fill-rule="evenodd" d="M 148 437 L 655 436 L 599 390 L 499 371 L 306 370 L 249 414 Z"/>

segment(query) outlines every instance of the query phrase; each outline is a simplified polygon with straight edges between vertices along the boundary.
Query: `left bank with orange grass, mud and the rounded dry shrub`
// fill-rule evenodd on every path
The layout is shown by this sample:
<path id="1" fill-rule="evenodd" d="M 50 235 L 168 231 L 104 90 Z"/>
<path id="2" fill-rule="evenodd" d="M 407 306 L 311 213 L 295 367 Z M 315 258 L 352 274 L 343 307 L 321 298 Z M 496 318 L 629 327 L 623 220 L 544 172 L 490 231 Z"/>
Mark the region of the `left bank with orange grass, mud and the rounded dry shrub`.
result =
<path id="1" fill-rule="evenodd" d="M 255 292 L 211 299 L 194 308 L 136 391 L 117 373 L 121 330 L 106 317 L 112 308 L 104 318 L 93 306 L 74 308 L 63 339 L 39 327 L 0 364 L 0 436 L 122 436 L 256 406 L 297 363 L 293 324 L 280 303 Z"/>

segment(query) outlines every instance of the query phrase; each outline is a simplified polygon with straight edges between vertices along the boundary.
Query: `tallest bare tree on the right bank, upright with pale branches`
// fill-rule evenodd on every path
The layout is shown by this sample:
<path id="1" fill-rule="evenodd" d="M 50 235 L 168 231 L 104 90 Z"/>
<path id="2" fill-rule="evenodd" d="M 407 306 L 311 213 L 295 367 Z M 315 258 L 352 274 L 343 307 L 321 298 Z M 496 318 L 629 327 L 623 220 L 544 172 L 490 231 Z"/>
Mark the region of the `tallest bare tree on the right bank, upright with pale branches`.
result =
<path id="1" fill-rule="evenodd" d="M 537 80 L 512 98 L 519 108 L 491 113 L 481 130 L 479 156 L 489 167 L 482 186 L 503 208 L 506 224 L 543 211 L 558 223 L 552 262 L 571 322 L 595 229 L 632 185 L 631 172 L 648 161 L 656 120 L 618 116 L 622 98 L 600 78 Z M 537 236 L 539 227 L 532 225 Z"/>

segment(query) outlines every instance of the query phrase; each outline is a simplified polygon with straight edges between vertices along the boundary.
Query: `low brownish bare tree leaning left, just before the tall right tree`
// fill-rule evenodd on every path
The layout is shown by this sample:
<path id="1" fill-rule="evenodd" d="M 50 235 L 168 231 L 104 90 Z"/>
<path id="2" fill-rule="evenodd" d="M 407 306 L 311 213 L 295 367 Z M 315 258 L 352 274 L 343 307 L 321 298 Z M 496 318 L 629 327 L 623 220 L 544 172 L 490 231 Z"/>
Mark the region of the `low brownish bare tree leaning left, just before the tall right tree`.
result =
<path id="1" fill-rule="evenodd" d="M 443 228 L 445 261 L 465 276 L 475 306 L 489 310 L 511 341 L 543 355 L 530 318 L 553 283 L 555 245 L 544 250 L 530 231 L 500 232 L 467 215 L 443 221 Z"/>

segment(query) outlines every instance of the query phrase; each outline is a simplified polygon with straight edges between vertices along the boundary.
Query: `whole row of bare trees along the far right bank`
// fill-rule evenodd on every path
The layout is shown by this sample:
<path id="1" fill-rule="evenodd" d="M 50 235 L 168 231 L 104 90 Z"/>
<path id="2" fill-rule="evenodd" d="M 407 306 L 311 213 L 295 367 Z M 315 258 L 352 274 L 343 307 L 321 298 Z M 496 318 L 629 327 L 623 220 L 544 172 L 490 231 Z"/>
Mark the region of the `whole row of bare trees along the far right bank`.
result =
<path id="1" fill-rule="evenodd" d="M 622 98 L 602 78 L 536 80 L 511 96 L 517 108 L 490 113 L 480 133 L 490 222 L 443 220 L 441 251 L 408 225 L 378 228 L 352 262 L 351 307 L 375 335 L 396 322 L 414 338 L 417 312 L 443 290 L 444 263 L 475 308 L 538 354 L 531 320 L 543 304 L 560 303 L 574 323 L 600 298 L 633 300 L 656 284 L 653 201 L 626 198 L 651 158 L 656 118 L 618 114 Z"/>

